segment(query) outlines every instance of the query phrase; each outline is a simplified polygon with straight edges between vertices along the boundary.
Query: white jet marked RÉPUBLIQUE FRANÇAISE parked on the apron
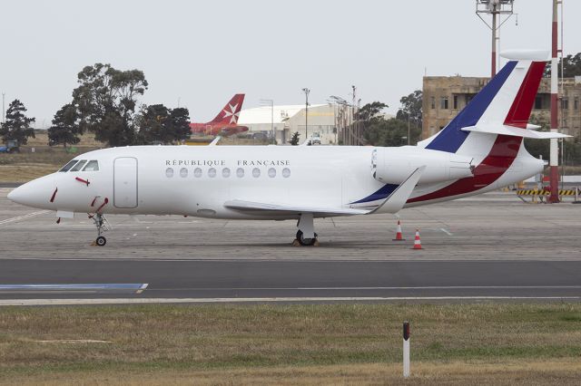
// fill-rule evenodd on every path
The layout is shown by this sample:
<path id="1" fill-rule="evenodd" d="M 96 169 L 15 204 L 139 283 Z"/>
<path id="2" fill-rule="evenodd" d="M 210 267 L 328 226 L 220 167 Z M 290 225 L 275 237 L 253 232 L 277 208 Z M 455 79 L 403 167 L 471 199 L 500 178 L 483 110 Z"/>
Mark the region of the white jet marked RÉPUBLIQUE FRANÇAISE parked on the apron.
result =
<path id="1" fill-rule="evenodd" d="M 562 138 L 528 124 L 547 53 L 509 62 L 436 135 L 417 146 L 138 146 L 95 150 L 15 188 L 8 198 L 88 213 L 96 244 L 107 214 L 295 219 L 301 245 L 313 218 L 397 213 L 402 207 L 478 195 L 539 173 L 523 138 Z"/>

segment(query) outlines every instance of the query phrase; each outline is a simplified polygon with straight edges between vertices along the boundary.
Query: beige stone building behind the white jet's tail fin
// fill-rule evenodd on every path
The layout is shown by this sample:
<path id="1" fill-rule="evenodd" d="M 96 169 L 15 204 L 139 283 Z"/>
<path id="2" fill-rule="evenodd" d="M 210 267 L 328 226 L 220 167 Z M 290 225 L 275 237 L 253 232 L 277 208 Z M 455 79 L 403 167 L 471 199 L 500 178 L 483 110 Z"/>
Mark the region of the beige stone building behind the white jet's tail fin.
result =
<path id="1" fill-rule="evenodd" d="M 443 129 L 459 111 L 489 81 L 487 77 L 425 76 L 423 82 L 423 127 L 422 139 Z M 566 78 L 558 117 L 562 132 L 578 137 L 581 135 L 581 77 Z M 537 120 L 550 121 L 550 80 L 543 78 L 538 89 L 532 114 Z"/>

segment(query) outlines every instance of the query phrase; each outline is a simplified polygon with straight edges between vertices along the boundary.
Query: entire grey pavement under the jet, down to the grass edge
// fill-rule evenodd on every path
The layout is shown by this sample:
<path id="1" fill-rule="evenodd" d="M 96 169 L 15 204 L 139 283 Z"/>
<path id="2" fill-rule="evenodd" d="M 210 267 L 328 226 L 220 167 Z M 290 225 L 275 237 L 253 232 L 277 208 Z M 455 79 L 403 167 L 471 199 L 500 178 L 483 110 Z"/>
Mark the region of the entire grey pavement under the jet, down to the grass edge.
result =
<path id="1" fill-rule="evenodd" d="M 0 304 L 579 301 L 581 206 L 492 193 L 392 216 L 295 224 L 112 216 L 107 246 L 86 217 L 18 206 L 0 188 Z M 421 229 L 425 249 L 414 251 Z"/>

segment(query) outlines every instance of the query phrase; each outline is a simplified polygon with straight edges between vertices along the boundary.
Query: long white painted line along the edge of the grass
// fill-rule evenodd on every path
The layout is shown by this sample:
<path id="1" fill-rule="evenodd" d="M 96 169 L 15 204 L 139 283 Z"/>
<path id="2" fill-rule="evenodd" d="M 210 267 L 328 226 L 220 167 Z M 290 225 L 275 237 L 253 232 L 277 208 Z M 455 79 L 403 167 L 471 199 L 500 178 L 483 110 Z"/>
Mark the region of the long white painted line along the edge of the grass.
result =
<path id="1" fill-rule="evenodd" d="M 208 297 L 115 299 L 3 299 L 2 305 L 179 304 L 179 303 L 293 303 L 430 300 L 581 300 L 581 296 L 340 296 L 340 297 Z"/>

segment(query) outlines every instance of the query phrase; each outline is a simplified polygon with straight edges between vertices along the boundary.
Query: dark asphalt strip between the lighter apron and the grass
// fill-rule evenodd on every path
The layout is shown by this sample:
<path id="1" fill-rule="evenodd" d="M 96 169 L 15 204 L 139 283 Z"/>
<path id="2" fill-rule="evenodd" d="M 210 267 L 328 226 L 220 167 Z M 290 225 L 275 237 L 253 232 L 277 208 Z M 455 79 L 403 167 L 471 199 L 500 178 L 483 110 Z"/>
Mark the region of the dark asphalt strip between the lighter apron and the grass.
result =
<path id="1" fill-rule="evenodd" d="M 0 260 L 0 299 L 581 299 L 577 261 Z M 44 287 L 23 286 L 44 283 Z M 59 287 L 64 283 L 68 286 Z M 99 288 L 86 284 L 108 284 Z M 126 284 L 124 287 L 119 284 Z M 133 284 L 129 286 L 127 284 Z M 74 286 L 77 285 L 77 286 Z M 0 301 L 1 304 L 1 301 Z"/>

